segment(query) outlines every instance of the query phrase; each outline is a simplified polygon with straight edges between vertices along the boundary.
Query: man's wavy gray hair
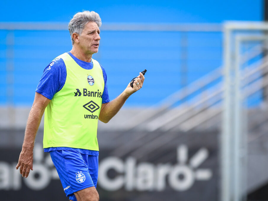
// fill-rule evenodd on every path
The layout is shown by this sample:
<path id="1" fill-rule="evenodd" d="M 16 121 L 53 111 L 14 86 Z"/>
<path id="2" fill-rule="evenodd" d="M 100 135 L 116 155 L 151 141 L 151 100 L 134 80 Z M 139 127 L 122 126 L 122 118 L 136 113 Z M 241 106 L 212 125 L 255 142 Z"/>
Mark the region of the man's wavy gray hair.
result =
<path id="1" fill-rule="evenodd" d="M 83 12 L 78 12 L 73 16 L 73 19 L 69 22 L 68 29 L 70 31 L 71 35 L 71 40 L 72 40 L 72 45 L 74 44 L 73 40 L 73 33 L 78 33 L 81 35 L 85 25 L 88 22 L 96 22 L 98 27 L 102 25 L 102 20 L 100 19 L 100 15 L 94 11 L 83 11 Z"/>

